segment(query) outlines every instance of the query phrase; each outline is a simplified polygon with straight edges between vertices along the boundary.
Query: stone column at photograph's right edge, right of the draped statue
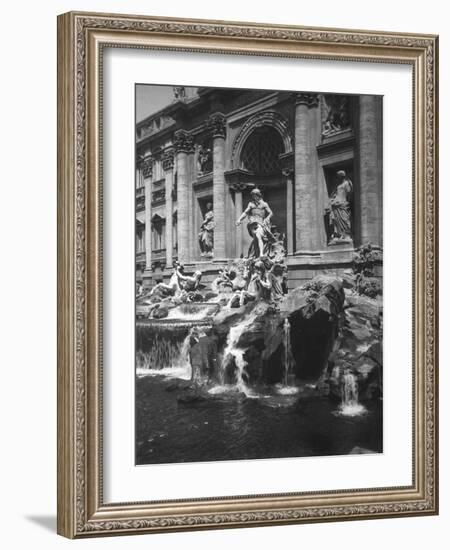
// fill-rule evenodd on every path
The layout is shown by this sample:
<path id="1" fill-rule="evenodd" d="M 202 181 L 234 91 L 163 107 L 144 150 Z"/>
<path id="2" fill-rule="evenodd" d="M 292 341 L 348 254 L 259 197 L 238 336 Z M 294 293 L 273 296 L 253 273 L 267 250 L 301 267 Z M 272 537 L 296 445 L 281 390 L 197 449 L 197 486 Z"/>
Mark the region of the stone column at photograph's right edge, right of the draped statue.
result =
<path id="1" fill-rule="evenodd" d="M 381 244 L 381 170 L 377 98 L 359 97 L 359 223 L 361 244 Z"/>

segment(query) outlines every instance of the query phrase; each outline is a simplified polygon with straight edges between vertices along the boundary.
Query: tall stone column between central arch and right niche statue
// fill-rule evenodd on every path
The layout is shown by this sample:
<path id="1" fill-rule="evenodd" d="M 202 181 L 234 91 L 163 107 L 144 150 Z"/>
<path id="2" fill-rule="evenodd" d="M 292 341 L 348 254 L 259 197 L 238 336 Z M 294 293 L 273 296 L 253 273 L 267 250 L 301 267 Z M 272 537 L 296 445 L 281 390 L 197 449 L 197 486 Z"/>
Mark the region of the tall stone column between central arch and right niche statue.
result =
<path id="1" fill-rule="evenodd" d="M 318 231 L 316 206 L 317 182 L 315 181 L 309 109 L 317 107 L 317 94 L 295 94 L 295 248 L 296 253 L 313 251 Z"/>

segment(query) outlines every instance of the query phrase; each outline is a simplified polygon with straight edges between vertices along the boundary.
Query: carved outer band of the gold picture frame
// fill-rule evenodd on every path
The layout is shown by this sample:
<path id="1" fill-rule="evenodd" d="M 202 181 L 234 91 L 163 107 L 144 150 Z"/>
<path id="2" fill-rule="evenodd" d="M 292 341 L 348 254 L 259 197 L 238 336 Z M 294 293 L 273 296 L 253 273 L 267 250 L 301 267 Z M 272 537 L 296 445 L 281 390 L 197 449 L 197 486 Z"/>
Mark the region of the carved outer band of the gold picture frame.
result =
<path id="1" fill-rule="evenodd" d="M 62 16 L 66 17 L 66 16 Z M 195 528 L 195 527 L 217 527 L 217 526 L 239 526 L 239 525 L 262 525 L 273 523 L 286 523 L 298 521 L 316 521 L 319 519 L 341 519 L 341 518 L 368 518 L 374 515 L 395 516 L 399 514 L 419 514 L 436 513 L 437 510 L 437 487 L 436 487 L 436 460 L 437 460 L 437 442 L 436 442 L 436 417 L 437 417 L 437 228 L 436 228 L 436 209 L 437 209 L 437 174 L 436 174 L 436 109 L 437 109 L 437 67 L 435 51 L 437 48 L 436 39 L 427 36 L 412 35 L 394 35 L 377 32 L 356 32 L 356 31 L 338 31 L 328 29 L 302 29 L 289 27 L 269 27 L 265 25 L 251 25 L 241 23 L 216 23 L 206 21 L 176 21 L 164 19 L 147 19 L 126 16 L 107 16 L 95 14 L 72 14 L 71 24 L 74 24 L 74 67 L 75 75 L 75 116 L 74 127 L 70 129 L 73 140 L 73 151 L 75 159 L 75 189 L 73 191 L 74 200 L 74 235 L 73 245 L 65 245 L 65 254 L 70 254 L 73 261 L 74 288 L 67 289 L 67 292 L 74 294 L 74 365 L 73 365 L 73 394 L 69 395 L 69 387 L 63 388 L 66 392 L 67 401 L 74 403 L 74 433 L 70 434 L 74 440 L 74 519 L 76 536 L 82 536 L 89 533 L 126 533 L 130 530 L 174 530 L 176 528 Z M 342 504 L 342 505 L 321 505 L 321 506 L 300 506 L 289 507 L 286 509 L 273 510 L 249 510 L 243 512 L 220 512 L 214 514 L 208 513 L 178 513 L 161 517 L 145 518 L 145 504 L 140 511 L 139 519 L 118 519 L 118 520 L 99 520 L 88 515 L 88 490 L 92 479 L 87 475 L 87 285 L 92 284 L 88 281 L 87 262 L 89 261 L 89 250 L 86 242 L 86 165 L 87 165 L 87 62 L 86 45 L 87 34 L 90 30 L 110 30 L 110 31 L 139 31 L 139 33 L 164 33 L 168 36 L 189 35 L 192 37 L 236 37 L 241 39 L 252 39 L 256 41 L 269 40 L 295 43 L 317 43 L 324 45 L 346 44 L 360 48 L 361 46 L 372 46 L 375 48 L 406 48 L 411 51 L 417 51 L 417 57 L 424 56 L 424 88 L 423 98 L 424 126 L 417 128 L 416 132 L 422 134 L 424 142 L 424 181 L 417 180 L 416 186 L 422 186 L 423 183 L 423 250 L 424 258 L 418 269 L 423 274 L 424 290 L 424 310 L 421 311 L 421 302 L 417 305 L 417 315 L 423 321 L 424 326 L 424 418 L 423 418 L 423 471 L 419 474 L 423 477 L 424 494 L 418 495 L 408 501 L 402 501 L 400 494 L 396 497 L 386 496 L 384 500 L 372 504 Z M 69 32 L 69 31 L 67 31 Z M 72 35 L 70 35 L 72 36 Z M 138 35 L 135 36 L 136 40 Z M 135 44 L 134 44 L 135 45 Z M 117 47 L 124 47 L 122 43 Z M 255 45 L 257 48 L 257 45 Z M 183 48 L 174 47 L 173 49 L 182 50 Z M 188 50 L 189 48 L 185 48 Z M 195 49 L 195 47 L 194 47 Z M 198 46 L 197 46 L 197 49 Z M 248 53 L 242 51 L 242 53 Z M 256 55 L 258 55 L 256 53 Z M 280 54 L 285 55 L 285 54 Z M 287 54 L 286 54 L 287 55 Z M 292 54 L 295 56 L 295 54 Z M 374 54 L 375 55 L 375 54 Z M 304 53 L 302 57 L 315 57 L 314 55 Z M 330 58 L 339 58 L 339 55 L 331 55 Z M 376 57 L 376 55 L 375 55 Z M 385 60 L 384 56 L 384 60 Z M 395 55 L 392 53 L 395 62 Z M 355 59 L 364 60 L 361 50 L 357 50 Z M 348 58 L 347 58 L 348 59 Z M 368 61 L 373 61 L 369 59 Z M 379 60 L 380 62 L 382 59 Z M 405 61 L 401 61 L 405 62 Z M 420 59 L 417 61 L 420 63 Z M 415 71 L 415 79 L 418 78 Z M 420 86 L 417 87 L 420 91 Z M 417 100 L 417 98 L 416 98 Z M 416 124 L 419 120 L 416 116 Z M 223 126 L 223 125 L 222 125 Z M 214 124 L 214 128 L 216 125 Z M 217 124 L 217 128 L 220 124 Z M 216 130 L 215 130 L 216 131 Z M 223 130 L 217 130 L 217 135 L 223 135 Z M 73 139 L 73 138 L 71 138 Z M 185 146 L 182 147 L 182 149 Z M 178 149 L 181 150 L 181 149 Z M 420 154 L 420 152 L 418 153 Z M 416 191 L 416 200 L 417 200 Z M 420 210 L 419 207 L 417 207 Z M 421 210 L 420 210 L 421 211 Z M 73 247 L 72 247 L 73 246 Z M 420 251 L 419 251 L 420 252 Z M 420 252 L 421 254 L 421 252 Z M 90 266 L 92 268 L 92 266 Z M 101 277 L 100 277 L 101 280 Z M 69 329 L 70 327 L 67 327 Z M 91 329 L 92 330 L 92 329 Z M 92 337 L 92 334 L 91 334 Z M 417 341 L 416 344 L 418 345 Z M 69 345 L 65 341 L 60 345 Z M 66 368 L 59 365 L 59 368 Z M 71 387 L 72 387 L 71 385 Z M 420 419 L 419 419 L 420 420 Z M 422 426 L 419 426 L 422 429 Z M 62 438 L 64 434 L 59 433 Z M 421 451 L 420 451 L 421 452 Z M 418 460 L 419 457 L 415 457 Z M 101 471 L 101 466 L 100 466 Z M 376 491 L 375 491 L 376 492 Z M 332 492 L 331 494 L 336 493 Z M 317 493 L 318 495 L 329 495 L 330 493 Z M 382 490 L 380 489 L 382 495 Z M 294 498 L 294 497 L 292 497 Z M 398 501 L 395 499 L 398 498 Z M 217 502 L 217 501 L 216 501 Z M 226 502 L 224 500 L 223 502 Z M 241 502 L 244 502 L 242 500 Z M 251 501 L 249 501 L 251 502 Z M 202 501 L 205 503 L 205 500 Z M 250 507 L 250 504 L 249 504 Z M 275 505 L 274 505 L 275 508 Z M 114 506 L 111 510 L 115 510 Z M 125 512 L 123 512 L 125 517 Z M 70 529 L 67 531 L 71 533 Z M 72 534 L 72 535 L 73 535 Z M 71 536 L 72 536 L 71 535 Z"/>

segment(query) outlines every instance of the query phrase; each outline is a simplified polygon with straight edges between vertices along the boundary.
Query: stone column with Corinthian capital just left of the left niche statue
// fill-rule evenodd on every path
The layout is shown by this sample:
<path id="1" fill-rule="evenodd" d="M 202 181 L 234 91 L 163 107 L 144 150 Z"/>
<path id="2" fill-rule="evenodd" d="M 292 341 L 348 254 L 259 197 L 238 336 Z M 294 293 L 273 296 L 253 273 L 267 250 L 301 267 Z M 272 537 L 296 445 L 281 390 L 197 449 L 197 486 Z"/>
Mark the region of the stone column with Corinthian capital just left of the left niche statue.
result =
<path id="1" fill-rule="evenodd" d="M 188 154 L 193 150 L 194 140 L 186 130 L 177 130 L 174 147 L 177 155 L 177 202 L 178 202 L 178 261 L 189 261 L 189 170 Z"/>

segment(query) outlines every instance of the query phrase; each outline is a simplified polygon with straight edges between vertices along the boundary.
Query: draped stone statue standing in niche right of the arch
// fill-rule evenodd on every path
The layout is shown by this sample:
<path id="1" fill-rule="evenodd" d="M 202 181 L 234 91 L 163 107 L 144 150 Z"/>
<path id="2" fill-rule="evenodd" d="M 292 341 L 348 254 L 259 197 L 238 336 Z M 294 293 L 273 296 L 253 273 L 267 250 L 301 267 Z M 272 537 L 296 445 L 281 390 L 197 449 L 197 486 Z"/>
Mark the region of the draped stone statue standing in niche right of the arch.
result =
<path id="1" fill-rule="evenodd" d="M 344 170 L 339 170 L 336 175 L 338 183 L 330 197 L 329 206 L 325 209 L 331 229 L 330 244 L 352 241 L 351 199 L 353 184 Z"/>

